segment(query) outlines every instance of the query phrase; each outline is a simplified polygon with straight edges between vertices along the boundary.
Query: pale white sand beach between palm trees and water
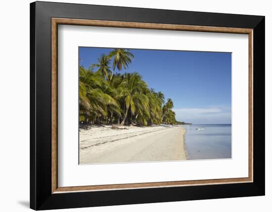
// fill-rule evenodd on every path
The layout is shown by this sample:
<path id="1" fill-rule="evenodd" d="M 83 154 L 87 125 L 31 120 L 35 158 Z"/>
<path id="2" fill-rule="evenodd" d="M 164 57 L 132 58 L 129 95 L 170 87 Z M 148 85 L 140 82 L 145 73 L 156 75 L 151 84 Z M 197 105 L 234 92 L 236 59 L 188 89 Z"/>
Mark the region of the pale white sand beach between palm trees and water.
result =
<path id="1" fill-rule="evenodd" d="M 80 129 L 80 164 L 186 159 L 181 126 Z"/>

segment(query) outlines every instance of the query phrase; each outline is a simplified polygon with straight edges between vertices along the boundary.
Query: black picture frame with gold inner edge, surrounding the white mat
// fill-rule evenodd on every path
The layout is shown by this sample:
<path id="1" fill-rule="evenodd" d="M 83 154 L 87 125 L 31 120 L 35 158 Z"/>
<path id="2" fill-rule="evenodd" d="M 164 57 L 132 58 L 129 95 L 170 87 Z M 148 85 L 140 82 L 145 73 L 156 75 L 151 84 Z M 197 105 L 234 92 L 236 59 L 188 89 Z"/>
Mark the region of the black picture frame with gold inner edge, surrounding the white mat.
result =
<path id="1" fill-rule="evenodd" d="M 58 25 L 248 34 L 248 177 L 58 187 Z M 31 209 L 265 195 L 264 16 L 33 2 L 30 4 L 30 97 Z"/>

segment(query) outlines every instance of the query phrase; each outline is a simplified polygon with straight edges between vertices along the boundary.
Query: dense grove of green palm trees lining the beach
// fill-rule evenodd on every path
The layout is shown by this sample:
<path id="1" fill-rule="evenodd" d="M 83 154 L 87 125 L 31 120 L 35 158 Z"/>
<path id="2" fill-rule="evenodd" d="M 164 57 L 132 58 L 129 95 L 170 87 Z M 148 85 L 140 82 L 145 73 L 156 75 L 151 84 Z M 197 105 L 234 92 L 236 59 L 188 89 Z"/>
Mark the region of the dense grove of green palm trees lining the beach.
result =
<path id="1" fill-rule="evenodd" d="M 121 73 L 133 58 L 127 49 L 114 49 L 90 68 L 79 67 L 80 123 L 176 124 L 171 99 L 165 101 L 162 92 L 149 89 L 137 72 Z"/>

